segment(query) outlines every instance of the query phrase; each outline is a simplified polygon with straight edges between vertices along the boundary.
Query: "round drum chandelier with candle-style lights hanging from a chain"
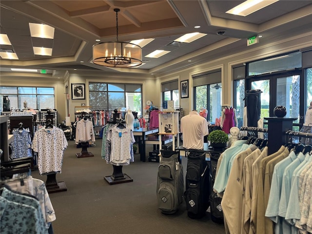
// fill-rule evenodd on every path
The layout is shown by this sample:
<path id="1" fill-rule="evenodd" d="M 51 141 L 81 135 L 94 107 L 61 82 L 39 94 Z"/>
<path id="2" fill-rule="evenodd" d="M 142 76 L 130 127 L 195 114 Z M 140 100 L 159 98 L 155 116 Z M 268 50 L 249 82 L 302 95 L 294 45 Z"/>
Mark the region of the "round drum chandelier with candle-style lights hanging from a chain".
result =
<path id="1" fill-rule="evenodd" d="M 139 45 L 118 41 L 118 12 L 116 12 L 116 42 L 100 42 L 93 45 L 93 63 L 106 67 L 136 67 L 142 64 L 142 48 Z"/>

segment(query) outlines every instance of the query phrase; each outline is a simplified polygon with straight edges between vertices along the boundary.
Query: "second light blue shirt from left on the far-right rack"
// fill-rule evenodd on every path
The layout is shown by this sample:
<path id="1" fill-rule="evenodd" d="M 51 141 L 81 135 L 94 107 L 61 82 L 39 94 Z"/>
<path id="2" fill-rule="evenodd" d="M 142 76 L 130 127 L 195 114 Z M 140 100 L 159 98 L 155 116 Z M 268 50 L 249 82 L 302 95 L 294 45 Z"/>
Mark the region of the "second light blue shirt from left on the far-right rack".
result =
<path id="1" fill-rule="evenodd" d="M 285 217 L 287 206 L 292 206 L 292 202 L 288 204 L 289 196 L 291 193 L 291 183 L 292 183 L 292 173 L 293 171 L 299 166 L 299 164 L 304 160 L 305 156 L 300 152 L 296 159 L 292 161 L 291 164 L 289 164 L 283 174 L 283 180 L 282 180 L 282 190 L 281 190 L 281 197 L 279 199 L 279 206 L 278 206 L 278 215 L 281 217 Z M 283 234 L 291 234 L 292 233 L 292 227 L 289 222 L 286 222 L 285 219 L 283 219 L 282 223 L 283 227 Z M 293 230 L 295 232 L 295 230 Z"/>

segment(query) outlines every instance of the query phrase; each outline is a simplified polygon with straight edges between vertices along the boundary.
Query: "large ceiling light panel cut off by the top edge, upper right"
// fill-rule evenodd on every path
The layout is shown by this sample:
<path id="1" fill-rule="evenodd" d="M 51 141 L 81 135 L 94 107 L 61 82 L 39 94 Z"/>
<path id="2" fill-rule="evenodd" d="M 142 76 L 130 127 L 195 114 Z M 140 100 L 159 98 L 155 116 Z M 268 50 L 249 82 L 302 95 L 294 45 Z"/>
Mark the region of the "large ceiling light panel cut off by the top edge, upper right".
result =
<path id="1" fill-rule="evenodd" d="M 266 6 L 269 6 L 278 0 L 247 0 L 243 3 L 235 6 L 226 13 L 238 15 L 238 16 L 248 16 Z"/>

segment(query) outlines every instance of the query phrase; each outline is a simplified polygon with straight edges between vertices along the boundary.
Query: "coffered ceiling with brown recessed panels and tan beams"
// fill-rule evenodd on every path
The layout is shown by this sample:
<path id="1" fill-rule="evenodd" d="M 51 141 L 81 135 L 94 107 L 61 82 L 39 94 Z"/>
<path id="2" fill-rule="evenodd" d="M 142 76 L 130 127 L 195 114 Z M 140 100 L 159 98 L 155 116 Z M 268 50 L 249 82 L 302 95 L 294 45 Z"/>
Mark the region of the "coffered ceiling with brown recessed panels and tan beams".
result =
<path id="1" fill-rule="evenodd" d="M 0 33 L 7 34 L 19 60 L 1 59 L 7 67 L 47 69 L 59 76 L 66 70 L 102 70 L 107 73 L 163 74 L 197 62 L 222 57 L 246 47 L 246 39 L 263 35 L 270 41 L 312 29 L 312 0 L 280 0 L 247 17 L 225 13 L 242 0 L 1 0 Z M 125 70 L 95 65 L 92 45 L 96 39 L 130 41 L 155 38 L 143 47 L 144 65 Z M 55 38 L 30 37 L 28 23 L 55 27 Z M 201 28 L 195 29 L 195 25 Z M 185 33 L 208 34 L 191 43 L 169 44 Z M 217 35 L 224 31 L 225 35 Z M 52 47 L 52 57 L 34 55 L 33 46 Z M 144 58 L 156 49 L 170 50 L 158 59 Z M 188 62 L 192 60 L 192 62 Z M 83 61 L 81 63 L 80 61 Z"/>

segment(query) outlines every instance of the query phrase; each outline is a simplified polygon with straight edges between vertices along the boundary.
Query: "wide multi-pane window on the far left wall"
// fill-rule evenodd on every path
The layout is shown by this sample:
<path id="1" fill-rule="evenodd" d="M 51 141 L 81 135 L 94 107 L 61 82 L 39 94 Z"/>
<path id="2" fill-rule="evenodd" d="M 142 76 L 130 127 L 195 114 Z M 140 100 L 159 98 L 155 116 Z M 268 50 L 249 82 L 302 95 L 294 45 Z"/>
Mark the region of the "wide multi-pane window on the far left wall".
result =
<path id="1" fill-rule="evenodd" d="M 55 95 L 52 87 L 0 87 L 1 110 L 3 96 L 10 99 L 10 107 L 13 109 L 24 109 L 24 102 L 31 109 L 55 109 Z"/>

